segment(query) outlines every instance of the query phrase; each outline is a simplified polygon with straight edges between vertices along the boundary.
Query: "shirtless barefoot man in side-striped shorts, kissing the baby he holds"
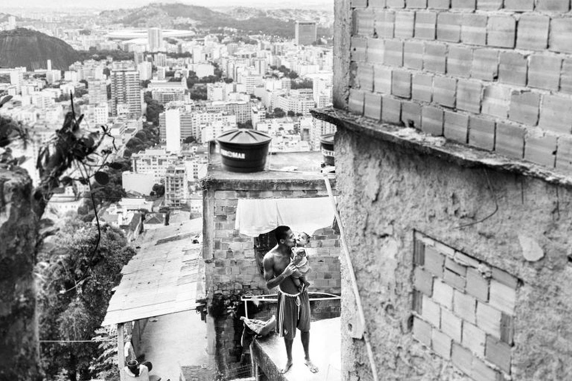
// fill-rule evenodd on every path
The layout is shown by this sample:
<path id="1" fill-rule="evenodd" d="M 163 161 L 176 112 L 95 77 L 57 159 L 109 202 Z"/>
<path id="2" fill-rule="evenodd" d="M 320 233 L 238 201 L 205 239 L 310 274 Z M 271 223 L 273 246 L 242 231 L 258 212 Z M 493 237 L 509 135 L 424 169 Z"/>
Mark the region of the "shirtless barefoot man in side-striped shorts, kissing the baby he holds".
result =
<path id="1" fill-rule="evenodd" d="M 278 244 L 264 256 L 264 279 L 266 287 L 279 286 L 278 316 L 276 328 L 280 336 L 284 337 L 286 355 L 288 360 L 281 373 L 287 372 L 292 367 L 292 343 L 296 337 L 296 328 L 300 330 L 300 338 L 304 347 L 304 364 L 312 373 L 318 368 L 310 360 L 310 301 L 308 290 L 302 292 L 294 284 L 292 273 L 296 265 L 290 262 L 291 249 L 295 246 L 294 233 L 287 226 L 279 226 L 275 231 Z"/>

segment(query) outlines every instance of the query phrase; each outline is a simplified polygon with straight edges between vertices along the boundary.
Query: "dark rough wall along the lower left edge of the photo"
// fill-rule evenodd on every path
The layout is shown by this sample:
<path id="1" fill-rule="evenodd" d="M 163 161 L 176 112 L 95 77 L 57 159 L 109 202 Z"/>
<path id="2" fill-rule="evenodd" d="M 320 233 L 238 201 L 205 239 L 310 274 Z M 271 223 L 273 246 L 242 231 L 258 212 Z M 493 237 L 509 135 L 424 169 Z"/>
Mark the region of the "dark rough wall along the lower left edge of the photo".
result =
<path id="1" fill-rule="evenodd" d="M 0 379 L 38 377 L 33 269 L 37 219 L 25 170 L 0 169 Z"/>

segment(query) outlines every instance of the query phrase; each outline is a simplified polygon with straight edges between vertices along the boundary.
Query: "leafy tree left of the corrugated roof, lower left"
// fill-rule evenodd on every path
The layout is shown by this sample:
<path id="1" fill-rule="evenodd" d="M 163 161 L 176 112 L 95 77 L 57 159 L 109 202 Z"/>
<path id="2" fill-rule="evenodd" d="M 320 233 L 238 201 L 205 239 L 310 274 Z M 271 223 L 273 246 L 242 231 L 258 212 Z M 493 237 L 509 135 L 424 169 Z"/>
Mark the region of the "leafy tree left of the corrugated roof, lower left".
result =
<path id="1" fill-rule="evenodd" d="M 47 340 L 90 340 L 101 326 L 112 296 L 121 280 L 121 268 L 135 254 L 123 233 L 68 217 L 54 236 L 53 248 L 39 253 L 38 292 L 40 336 Z M 90 379 L 97 343 L 43 345 L 41 357 L 48 379 L 67 371 L 72 381 Z"/>

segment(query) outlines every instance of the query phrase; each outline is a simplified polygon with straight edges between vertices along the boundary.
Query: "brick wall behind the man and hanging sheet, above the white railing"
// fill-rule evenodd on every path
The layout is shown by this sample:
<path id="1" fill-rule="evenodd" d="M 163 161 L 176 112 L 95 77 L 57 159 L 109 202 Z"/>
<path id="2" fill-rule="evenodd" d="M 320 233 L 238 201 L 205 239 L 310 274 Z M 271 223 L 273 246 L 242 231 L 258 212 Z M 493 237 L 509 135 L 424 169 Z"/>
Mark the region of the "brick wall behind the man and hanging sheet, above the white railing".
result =
<path id="1" fill-rule="evenodd" d="M 213 292 L 268 293 L 256 260 L 253 237 L 235 229 L 239 199 L 325 197 L 325 190 L 216 190 L 214 193 L 213 260 L 205 267 L 206 286 Z M 206 213 L 206 212 L 205 212 Z M 333 222 L 333 220 L 332 220 Z M 316 231 L 309 247 L 311 291 L 340 293 L 339 235 L 331 227 Z M 211 294 L 212 295 L 212 294 Z"/>

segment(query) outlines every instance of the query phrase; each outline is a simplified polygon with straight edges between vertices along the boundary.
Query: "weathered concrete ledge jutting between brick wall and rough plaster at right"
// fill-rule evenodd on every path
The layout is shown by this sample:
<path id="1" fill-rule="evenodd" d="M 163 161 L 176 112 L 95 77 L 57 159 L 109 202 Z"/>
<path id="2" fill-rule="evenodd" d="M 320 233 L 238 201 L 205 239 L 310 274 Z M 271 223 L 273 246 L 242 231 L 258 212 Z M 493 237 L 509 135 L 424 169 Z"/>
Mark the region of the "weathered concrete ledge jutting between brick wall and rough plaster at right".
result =
<path id="1" fill-rule="evenodd" d="M 455 143 L 446 140 L 444 137 L 431 136 L 413 128 L 385 124 L 344 110 L 324 108 L 314 109 L 310 112 L 313 117 L 335 124 L 338 128 L 366 134 L 411 149 L 419 154 L 442 158 L 459 166 L 521 174 L 539 178 L 550 184 L 572 188 L 572 174 L 561 170 L 546 168 L 529 161 L 513 159 L 495 152 Z"/>

